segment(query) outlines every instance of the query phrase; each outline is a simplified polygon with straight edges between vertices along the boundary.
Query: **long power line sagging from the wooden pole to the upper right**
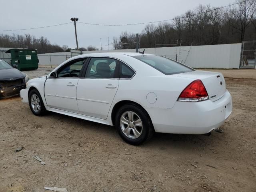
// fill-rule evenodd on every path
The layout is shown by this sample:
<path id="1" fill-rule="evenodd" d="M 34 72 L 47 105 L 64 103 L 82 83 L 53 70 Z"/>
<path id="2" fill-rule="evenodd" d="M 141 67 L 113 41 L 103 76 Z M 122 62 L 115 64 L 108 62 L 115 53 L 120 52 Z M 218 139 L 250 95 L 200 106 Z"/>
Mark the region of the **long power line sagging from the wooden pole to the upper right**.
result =
<path id="1" fill-rule="evenodd" d="M 230 7 L 230 6 L 233 6 L 233 5 L 236 5 L 236 4 L 240 4 L 240 3 L 243 3 L 243 2 L 246 2 L 246 1 L 248 1 L 248 0 L 244 0 L 242 2 L 234 3 L 234 4 L 223 6 L 223 7 L 218 7 L 218 8 L 212 9 L 212 10 L 207 10 L 205 12 L 193 14 L 193 15 L 190 15 L 190 16 L 183 16 L 183 17 L 177 17 L 177 18 L 160 20 L 160 21 L 152 21 L 152 22 L 144 22 L 144 23 L 131 23 L 131 24 L 95 24 L 95 23 L 85 23 L 85 22 L 79 22 L 79 23 L 87 24 L 87 25 L 98 25 L 98 26 L 127 26 L 127 25 L 140 25 L 140 24 L 158 23 L 158 22 L 164 22 L 164 21 L 171 21 L 171 20 L 175 20 L 175 19 L 188 18 L 188 17 L 191 17 L 191 16 L 196 16 L 196 15 L 207 13 L 207 12 L 212 12 L 214 10 L 222 9 L 222 8 L 225 8 L 225 7 Z"/>

